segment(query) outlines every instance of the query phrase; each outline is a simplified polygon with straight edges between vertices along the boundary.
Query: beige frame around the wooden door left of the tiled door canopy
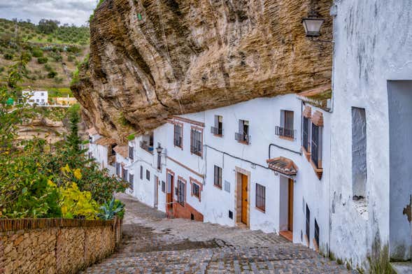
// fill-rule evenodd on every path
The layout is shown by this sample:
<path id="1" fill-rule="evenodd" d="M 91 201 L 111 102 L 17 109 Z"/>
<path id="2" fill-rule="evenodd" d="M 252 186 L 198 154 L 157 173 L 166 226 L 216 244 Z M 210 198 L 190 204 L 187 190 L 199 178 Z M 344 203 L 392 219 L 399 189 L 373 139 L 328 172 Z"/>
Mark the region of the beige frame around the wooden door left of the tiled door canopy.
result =
<path id="1" fill-rule="evenodd" d="M 247 228 L 250 228 L 250 171 L 247 171 L 246 169 L 239 168 L 238 166 L 235 166 L 235 181 L 236 185 L 234 187 L 234 204 L 236 206 L 235 208 L 235 223 L 238 226 L 246 226 Z M 242 219 L 242 176 L 241 175 L 246 175 L 248 178 L 248 212 L 247 212 L 247 218 L 248 222 L 247 224 L 244 224 L 241 222 Z"/>

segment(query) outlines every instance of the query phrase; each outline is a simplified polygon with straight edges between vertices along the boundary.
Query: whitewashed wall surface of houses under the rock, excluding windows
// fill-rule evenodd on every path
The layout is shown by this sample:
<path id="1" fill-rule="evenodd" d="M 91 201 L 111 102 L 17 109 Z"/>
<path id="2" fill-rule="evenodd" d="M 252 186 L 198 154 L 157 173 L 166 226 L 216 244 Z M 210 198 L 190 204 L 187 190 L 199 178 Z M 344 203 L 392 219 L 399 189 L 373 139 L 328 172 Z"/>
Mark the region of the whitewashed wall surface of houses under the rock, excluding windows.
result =
<path id="1" fill-rule="evenodd" d="M 185 207 L 180 208 L 181 211 L 178 210 L 177 213 L 176 208 L 173 208 L 173 214 L 178 217 L 192 217 L 229 226 L 246 226 L 265 232 L 292 230 L 294 243 L 303 243 L 318 249 L 314 240 L 316 220 L 319 247 L 326 253 L 329 246 L 330 117 L 325 110 L 312 107 L 313 113 L 316 110 L 322 113 L 325 124 L 321 152 L 324 164 L 322 178 L 319 179 L 313 166 L 301 152 L 303 108 L 304 103 L 297 99 L 295 94 L 288 94 L 171 117 L 168 123 L 152 132 L 152 141 L 148 134 L 129 142 L 129 147 L 133 147 L 133 159 L 117 155 L 116 161 L 125 166 L 129 173 L 134 174 L 133 189 L 128 189 L 128 192 L 148 206 L 157 207 L 164 212 L 171 211 L 168 210 L 168 203 L 177 203 L 177 181 L 181 180 L 185 182 Z M 275 134 L 276 126 L 280 126 L 280 121 L 284 120 L 281 115 L 283 110 L 293 112 L 293 138 L 280 138 Z M 211 127 L 215 127 L 215 115 L 222 117 L 222 136 L 211 133 Z M 235 140 L 235 133 L 239 131 L 239 120 L 248 121 L 249 144 Z M 182 147 L 174 143 L 175 124 L 183 127 Z M 201 133 L 201 155 L 191 152 L 192 129 Z M 163 148 L 160 169 L 157 168 L 157 146 Z M 298 168 L 297 175 L 284 175 L 269 168 L 269 152 L 271 159 L 285 157 L 293 161 Z M 99 157 L 96 158 L 99 161 Z M 215 166 L 222 168 L 221 187 L 214 184 Z M 168 186 L 168 173 L 173 174 L 173 188 L 170 184 Z M 243 209 L 239 206 L 242 199 L 241 173 L 246 175 L 248 180 L 248 210 L 245 222 L 242 222 Z M 290 202 L 293 205 L 292 221 L 288 219 L 289 182 L 293 187 L 293 199 Z M 193 183 L 199 185 L 200 197 L 192 195 Z M 256 184 L 265 190 L 264 210 L 256 207 Z M 170 200 L 170 197 L 167 199 L 168 190 L 174 192 L 173 200 Z M 306 206 L 310 210 L 308 236 Z M 232 216 L 229 216 L 229 211 Z M 288 227 L 290 222 L 291 228 Z"/>

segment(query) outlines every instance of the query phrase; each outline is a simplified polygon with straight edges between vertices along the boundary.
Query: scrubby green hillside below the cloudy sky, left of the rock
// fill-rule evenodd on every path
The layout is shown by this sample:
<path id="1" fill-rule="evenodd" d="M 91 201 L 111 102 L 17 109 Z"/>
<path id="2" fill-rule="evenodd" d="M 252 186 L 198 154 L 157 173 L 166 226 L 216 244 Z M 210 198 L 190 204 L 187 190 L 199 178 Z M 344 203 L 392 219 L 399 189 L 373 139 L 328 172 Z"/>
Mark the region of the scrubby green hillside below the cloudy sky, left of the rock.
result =
<path id="1" fill-rule="evenodd" d="M 41 29 L 29 22 L 0 19 L 0 78 L 7 66 L 25 50 L 31 61 L 22 86 L 52 89 L 66 94 L 72 73 L 89 52 L 88 27 L 60 26 Z"/>

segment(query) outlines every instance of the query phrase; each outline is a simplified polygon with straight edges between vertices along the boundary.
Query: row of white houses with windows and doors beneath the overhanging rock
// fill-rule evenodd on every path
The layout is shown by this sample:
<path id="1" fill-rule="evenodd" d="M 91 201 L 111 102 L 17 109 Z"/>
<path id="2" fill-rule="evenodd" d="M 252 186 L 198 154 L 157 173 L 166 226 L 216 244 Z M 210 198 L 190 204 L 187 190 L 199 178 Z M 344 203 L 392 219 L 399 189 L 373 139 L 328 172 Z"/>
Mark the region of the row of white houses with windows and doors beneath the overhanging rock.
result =
<path id="1" fill-rule="evenodd" d="M 310 91 L 319 92 L 330 86 Z M 118 176 L 130 194 L 174 217 L 277 232 L 326 253 L 330 114 L 304 103 L 306 95 L 171 117 L 115 147 Z M 317 153 L 303 152 L 302 136 Z"/>

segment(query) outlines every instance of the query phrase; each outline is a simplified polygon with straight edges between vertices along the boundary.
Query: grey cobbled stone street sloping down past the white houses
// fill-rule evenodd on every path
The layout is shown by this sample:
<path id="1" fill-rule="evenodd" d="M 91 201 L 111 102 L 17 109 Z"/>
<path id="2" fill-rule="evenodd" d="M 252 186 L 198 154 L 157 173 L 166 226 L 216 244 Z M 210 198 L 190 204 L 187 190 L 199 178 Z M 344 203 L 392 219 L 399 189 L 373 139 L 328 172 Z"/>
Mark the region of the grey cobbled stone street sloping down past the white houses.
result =
<path id="1" fill-rule="evenodd" d="M 118 198 L 126 203 L 122 245 L 83 273 L 350 273 L 275 233 L 166 219 L 131 196 Z"/>

